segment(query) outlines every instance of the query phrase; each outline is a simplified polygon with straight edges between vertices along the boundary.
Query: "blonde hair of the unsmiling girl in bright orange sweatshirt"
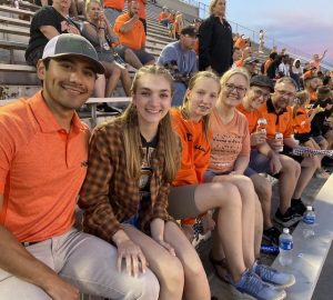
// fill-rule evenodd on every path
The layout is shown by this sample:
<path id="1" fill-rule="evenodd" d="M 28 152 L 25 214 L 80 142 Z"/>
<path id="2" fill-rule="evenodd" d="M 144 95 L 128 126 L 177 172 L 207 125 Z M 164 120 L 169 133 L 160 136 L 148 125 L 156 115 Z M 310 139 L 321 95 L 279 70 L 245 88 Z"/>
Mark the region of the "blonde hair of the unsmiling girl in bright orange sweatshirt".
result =
<path id="1" fill-rule="evenodd" d="M 188 90 L 192 90 L 194 88 L 196 81 L 199 81 L 201 79 L 205 79 L 205 78 L 213 79 L 216 81 L 216 83 L 219 84 L 219 93 L 220 93 L 221 86 L 219 82 L 219 77 L 211 71 L 202 71 L 202 72 L 198 72 L 196 74 L 194 74 L 190 79 Z M 188 98 L 186 93 L 184 96 L 183 103 L 180 107 L 180 111 L 184 119 L 189 119 L 189 98 Z M 209 133 L 209 128 L 210 128 L 210 114 L 202 117 L 202 120 L 203 120 L 203 132 L 204 132 L 205 139 L 208 140 L 208 133 Z"/>

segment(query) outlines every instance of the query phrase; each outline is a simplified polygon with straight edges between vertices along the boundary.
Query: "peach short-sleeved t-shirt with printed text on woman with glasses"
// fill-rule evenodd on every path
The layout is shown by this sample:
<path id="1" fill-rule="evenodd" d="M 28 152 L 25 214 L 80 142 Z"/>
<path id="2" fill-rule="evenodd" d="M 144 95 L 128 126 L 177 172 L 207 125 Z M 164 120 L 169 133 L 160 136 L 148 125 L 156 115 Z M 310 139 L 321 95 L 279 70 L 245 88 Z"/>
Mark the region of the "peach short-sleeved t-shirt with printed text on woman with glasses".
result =
<path id="1" fill-rule="evenodd" d="M 239 156 L 250 156 L 249 124 L 244 114 L 235 110 L 233 119 L 224 124 L 218 109 L 211 114 L 211 160 L 209 169 L 214 172 L 231 172 Z"/>

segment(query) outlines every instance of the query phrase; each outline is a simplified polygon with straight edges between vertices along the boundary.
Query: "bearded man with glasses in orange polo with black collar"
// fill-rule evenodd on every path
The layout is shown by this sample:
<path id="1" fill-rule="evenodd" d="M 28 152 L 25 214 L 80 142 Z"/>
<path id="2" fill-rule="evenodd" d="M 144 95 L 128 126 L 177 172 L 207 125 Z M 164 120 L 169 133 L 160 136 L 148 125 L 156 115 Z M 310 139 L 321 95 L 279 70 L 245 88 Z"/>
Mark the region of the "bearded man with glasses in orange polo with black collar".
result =
<path id="1" fill-rule="evenodd" d="M 291 150 L 297 147 L 297 143 L 292 138 L 292 111 L 289 107 L 295 94 L 296 84 L 294 80 L 283 77 L 276 81 L 271 98 L 260 108 L 260 112 L 268 121 L 268 143 L 275 151 L 280 151 L 281 146 L 283 146 L 282 153 L 286 156 L 291 156 Z M 275 139 L 278 132 L 283 134 L 282 140 Z M 280 202 L 280 208 L 275 213 L 275 221 L 282 224 L 287 224 L 296 214 L 303 216 L 306 208 L 301 201 L 301 194 L 319 167 L 313 157 L 292 158 L 300 162 L 301 173 L 292 196 L 291 207 Z"/>

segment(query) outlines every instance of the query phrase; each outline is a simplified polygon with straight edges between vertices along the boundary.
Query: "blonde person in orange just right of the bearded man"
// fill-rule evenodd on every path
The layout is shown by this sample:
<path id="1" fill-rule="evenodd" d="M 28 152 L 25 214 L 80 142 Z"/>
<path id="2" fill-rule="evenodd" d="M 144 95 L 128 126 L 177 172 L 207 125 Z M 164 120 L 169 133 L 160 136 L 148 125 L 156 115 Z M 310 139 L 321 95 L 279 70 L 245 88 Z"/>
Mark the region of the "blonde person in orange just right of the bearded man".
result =
<path id="1" fill-rule="evenodd" d="M 324 111 L 325 109 L 321 106 L 312 109 L 309 103 L 310 94 L 307 91 L 300 91 L 296 93 L 296 98 L 293 106 L 293 130 L 294 130 L 294 139 L 300 141 L 301 146 L 309 147 L 312 149 L 321 150 L 327 148 L 327 142 L 322 140 L 322 147 L 316 143 L 311 134 L 311 122 L 316 113 Z M 321 159 L 322 157 L 316 157 L 319 160 L 320 168 L 316 170 L 315 177 L 327 179 L 330 173 L 327 173 L 323 168 L 321 168 Z"/>

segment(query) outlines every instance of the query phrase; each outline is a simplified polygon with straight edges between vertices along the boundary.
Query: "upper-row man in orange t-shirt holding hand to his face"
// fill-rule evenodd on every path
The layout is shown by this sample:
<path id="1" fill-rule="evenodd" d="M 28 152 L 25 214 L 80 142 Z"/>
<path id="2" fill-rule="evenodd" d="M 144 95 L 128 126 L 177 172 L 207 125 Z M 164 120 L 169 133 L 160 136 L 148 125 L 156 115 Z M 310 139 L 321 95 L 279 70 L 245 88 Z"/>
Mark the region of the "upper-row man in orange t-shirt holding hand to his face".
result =
<path id="1" fill-rule="evenodd" d="M 129 2 L 128 12 L 117 18 L 113 30 L 120 41 L 114 50 L 125 62 L 135 69 L 141 68 L 143 64 L 154 63 L 154 57 L 144 50 L 145 33 L 143 24 L 139 20 L 139 3 L 137 1 Z M 139 60 L 129 57 L 125 53 L 127 49 L 131 49 Z"/>

